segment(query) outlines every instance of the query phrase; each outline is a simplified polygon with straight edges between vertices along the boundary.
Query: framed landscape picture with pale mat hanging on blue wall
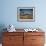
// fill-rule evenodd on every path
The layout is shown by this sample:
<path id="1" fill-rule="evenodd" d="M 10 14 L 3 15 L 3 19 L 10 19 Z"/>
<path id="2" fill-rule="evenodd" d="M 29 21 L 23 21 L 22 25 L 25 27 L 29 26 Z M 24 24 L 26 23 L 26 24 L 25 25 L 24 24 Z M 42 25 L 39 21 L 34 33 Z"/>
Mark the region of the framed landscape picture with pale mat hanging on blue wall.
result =
<path id="1" fill-rule="evenodd" d="M 21 22 L 35 21 L 35 8 L 34 7 L 18 7 L 17 20 Z"/>

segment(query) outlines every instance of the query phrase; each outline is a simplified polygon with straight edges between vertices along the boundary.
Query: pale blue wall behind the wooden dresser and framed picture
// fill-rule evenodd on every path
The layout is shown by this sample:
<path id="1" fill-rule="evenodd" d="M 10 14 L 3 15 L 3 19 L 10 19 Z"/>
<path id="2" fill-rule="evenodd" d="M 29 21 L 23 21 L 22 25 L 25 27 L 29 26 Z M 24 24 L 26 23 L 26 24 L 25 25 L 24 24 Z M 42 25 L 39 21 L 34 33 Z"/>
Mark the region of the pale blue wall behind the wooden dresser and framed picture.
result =
<path id="1" fill-rule="evenodd" d="M 46 32 L 46 0 L 0 0 L 0 31 L 13 24 L 16 28 L 42 28 Z M 35 7 L 35 22 L 18 22 L 17 7 Z"/>

